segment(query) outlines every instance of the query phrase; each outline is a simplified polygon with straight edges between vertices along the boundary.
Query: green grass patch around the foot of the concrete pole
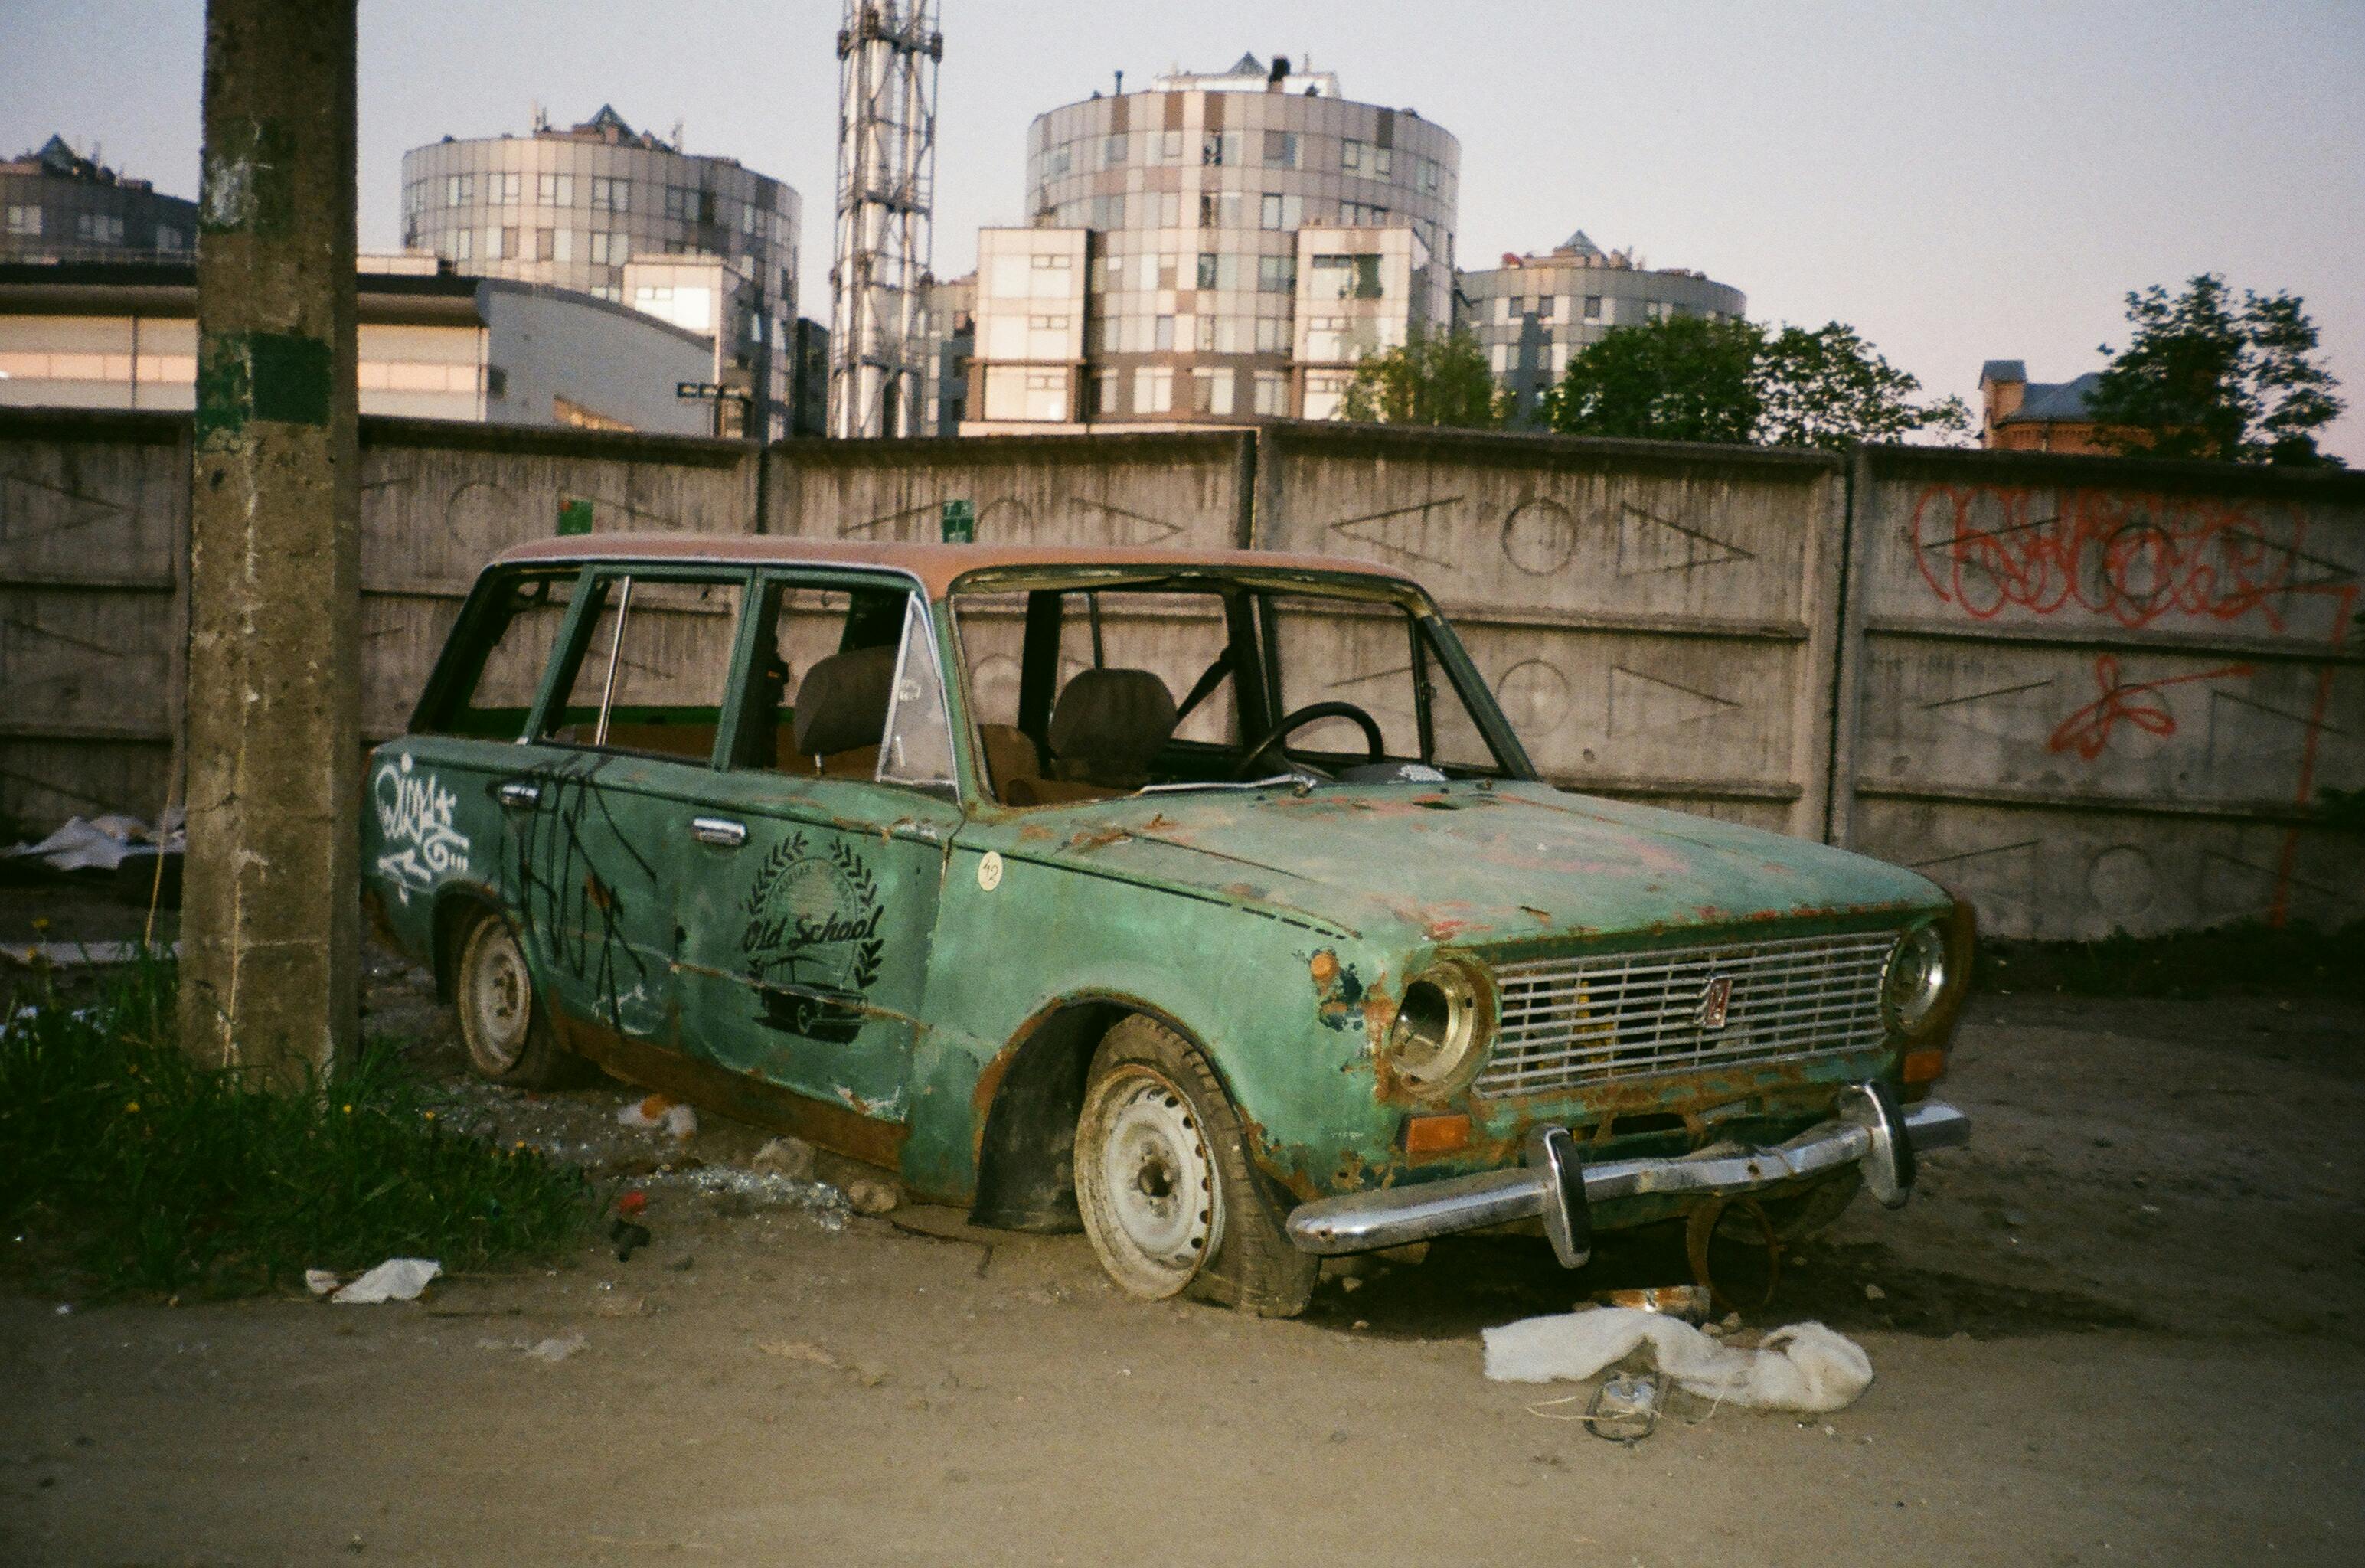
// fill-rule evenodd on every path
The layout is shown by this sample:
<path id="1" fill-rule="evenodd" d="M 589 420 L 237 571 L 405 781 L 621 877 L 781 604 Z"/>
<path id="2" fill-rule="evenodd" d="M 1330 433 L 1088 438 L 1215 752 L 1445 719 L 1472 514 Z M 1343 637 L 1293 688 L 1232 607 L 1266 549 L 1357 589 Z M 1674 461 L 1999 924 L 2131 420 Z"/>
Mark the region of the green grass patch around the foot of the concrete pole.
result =
<path id="1" fill-rule="evenodd" d="M 449 1130 L 385 1048 L 322 1095 L 175 1043 L 177 974 L 144 960 L 88 1007 L 0 1015 L 0 1227 L 85 1289 L 239 1296 L 393 1256 L 447 1272 L 537 1261 L 591 1223 L 582 1173 Z"/>

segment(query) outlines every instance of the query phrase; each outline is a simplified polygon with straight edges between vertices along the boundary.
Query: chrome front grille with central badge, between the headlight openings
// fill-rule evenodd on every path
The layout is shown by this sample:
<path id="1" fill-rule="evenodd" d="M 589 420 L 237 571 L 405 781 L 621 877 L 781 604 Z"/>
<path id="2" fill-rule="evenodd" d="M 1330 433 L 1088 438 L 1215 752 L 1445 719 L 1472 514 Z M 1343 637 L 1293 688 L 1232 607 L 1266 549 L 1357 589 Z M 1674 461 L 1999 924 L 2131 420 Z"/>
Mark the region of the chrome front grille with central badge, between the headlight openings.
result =
<path id="1" fill-rule="evenodd" d="M 1473 1088 L 1540 1095 L 1878 1045 L 1894 941 L 1861 932 L 1502 965 L 1502 1024 Z M 1724 1026 L 1710 1029 L 1717 979 L 1729 981 Z"/>

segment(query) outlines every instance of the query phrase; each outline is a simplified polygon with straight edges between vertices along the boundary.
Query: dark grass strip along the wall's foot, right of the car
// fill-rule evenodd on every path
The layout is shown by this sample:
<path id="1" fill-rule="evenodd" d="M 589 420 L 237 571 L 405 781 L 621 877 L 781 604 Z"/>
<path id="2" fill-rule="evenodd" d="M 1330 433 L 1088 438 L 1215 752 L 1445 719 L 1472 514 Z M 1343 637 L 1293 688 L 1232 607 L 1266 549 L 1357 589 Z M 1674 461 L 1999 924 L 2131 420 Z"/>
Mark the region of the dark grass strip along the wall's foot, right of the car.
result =
<path id="1" fill-rule="evenodd" d="M 2176 937 L 1982 941 L 1972 984 L 2069 996 L 2365 998 L 2365 922 L 2320 932 L 2247 920 Z"/>

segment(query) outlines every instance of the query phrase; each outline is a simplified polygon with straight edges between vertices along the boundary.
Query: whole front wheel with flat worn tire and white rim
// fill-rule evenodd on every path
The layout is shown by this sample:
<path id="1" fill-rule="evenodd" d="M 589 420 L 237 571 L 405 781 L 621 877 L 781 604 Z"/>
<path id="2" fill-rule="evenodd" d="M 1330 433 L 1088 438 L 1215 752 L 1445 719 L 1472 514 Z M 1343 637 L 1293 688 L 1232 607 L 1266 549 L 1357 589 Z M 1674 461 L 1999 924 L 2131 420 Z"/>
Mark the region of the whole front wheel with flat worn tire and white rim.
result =
<path id="1" fill-rule="evenodd" d="M 1190 1197 L 1175 1178 L 1197 1171 L 1206 1209 L 1175 1209 Z M 1320 1258 L 1289 1244 L 1232 1100 L 1206 1057 L 1156 1019 L 1119 1022 L 1093 1052 L 1076 1119 L 1076 1209 L 1102 1268 L 1145 1301 L 1192 1294 L 1296 1317 L 1313 1298 Z"/>

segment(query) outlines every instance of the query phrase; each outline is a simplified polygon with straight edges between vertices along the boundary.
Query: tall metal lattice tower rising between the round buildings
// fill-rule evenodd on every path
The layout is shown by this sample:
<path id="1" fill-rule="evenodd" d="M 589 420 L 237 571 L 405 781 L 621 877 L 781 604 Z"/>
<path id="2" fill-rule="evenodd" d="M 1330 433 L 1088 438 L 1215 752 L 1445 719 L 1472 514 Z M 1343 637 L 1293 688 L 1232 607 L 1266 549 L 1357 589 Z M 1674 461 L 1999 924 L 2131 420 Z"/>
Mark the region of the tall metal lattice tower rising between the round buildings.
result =
<path id="1" fill-rule="evenodd" d="M 920 286 L 937 187 L 937 0 L 847 0 L 837 33 L 830 435 L 920 426 Z"/>

